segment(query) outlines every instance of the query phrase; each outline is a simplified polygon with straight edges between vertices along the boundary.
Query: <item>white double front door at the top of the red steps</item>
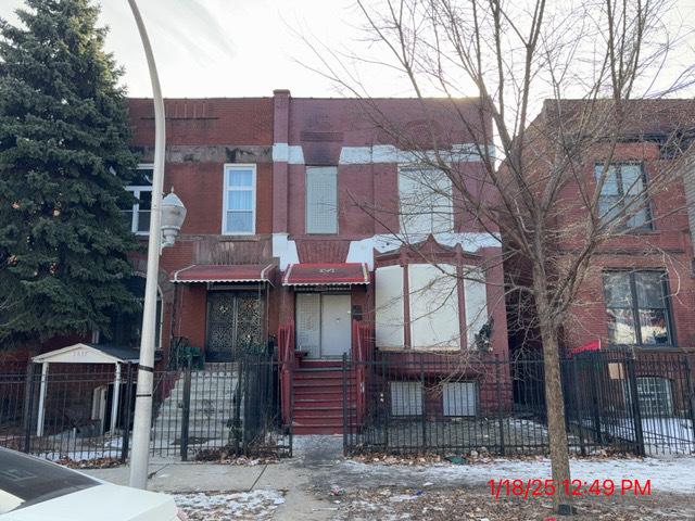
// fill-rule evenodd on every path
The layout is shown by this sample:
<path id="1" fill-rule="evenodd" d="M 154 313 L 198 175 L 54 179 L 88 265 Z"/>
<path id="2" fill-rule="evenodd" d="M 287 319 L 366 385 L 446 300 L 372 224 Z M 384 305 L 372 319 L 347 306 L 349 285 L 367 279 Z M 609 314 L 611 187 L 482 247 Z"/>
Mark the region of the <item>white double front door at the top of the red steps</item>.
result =
<path id="1" fill-rule="evenodd" d="M 340 358 L 350 353 L 350 295 L 296 294 L 296 348 L 307 358 Z"/>

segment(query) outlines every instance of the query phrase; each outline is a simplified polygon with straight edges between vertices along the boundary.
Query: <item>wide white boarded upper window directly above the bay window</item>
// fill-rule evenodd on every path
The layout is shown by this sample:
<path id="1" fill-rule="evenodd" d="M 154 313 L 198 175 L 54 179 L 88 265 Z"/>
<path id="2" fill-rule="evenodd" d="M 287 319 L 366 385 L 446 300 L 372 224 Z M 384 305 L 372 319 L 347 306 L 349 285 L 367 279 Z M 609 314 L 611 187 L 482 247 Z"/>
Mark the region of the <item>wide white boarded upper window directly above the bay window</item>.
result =
<path id="1" fill-rule="evenodd" d="M 453 230 L 452 182 L 435 168 L 399 168 L 401 233 L 442 233 Z"/>

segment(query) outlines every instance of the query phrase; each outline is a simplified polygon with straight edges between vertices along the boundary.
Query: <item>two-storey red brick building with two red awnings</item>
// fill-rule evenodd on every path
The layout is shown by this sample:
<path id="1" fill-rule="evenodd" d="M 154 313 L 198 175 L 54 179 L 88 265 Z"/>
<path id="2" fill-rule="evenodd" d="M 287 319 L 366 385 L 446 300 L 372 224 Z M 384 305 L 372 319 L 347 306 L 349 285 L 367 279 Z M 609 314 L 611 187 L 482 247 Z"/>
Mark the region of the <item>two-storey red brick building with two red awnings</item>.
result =
<path id="1" fill-rule="evenodd" d="M 451 161 L 475 173 L 482 168 L 471 152 L 480 137 L 460 115 L 480 118 L 479 101 L 456 101 L 455 111 L 451 103 L 428 100 L 427 110 Z M 432 176 L 408 150 L 427 127 L 424 114 L 416 100 L 366 104 L 285 90 L 273 98 L 167 100 L 164 186 L 188 215 L 161 259 L 165 358 L 172 339 L 188 339 L 207 361 L 228 361 L 279 335 L 280 352 L 295 366 L 295 427 L 315 432 L 341 424 L 340 395 L 331 392 L 336 369 L 343 354 L 357 355 L 358 344 L 404 360 L 414 352 L 459 356 L 479 352 L 476 334 L 494 323 L 484 352 L 506 354 L 505 309 L 493 304 L 503 291 L 498 233 L 453 209 L 451 185 L 426 198 L 448 208 L 443 215 L 421 207 L 407 215 L 414 198 L 422 204 L 418 179 Z M 129 218 L 144 238 L 151 101 L 130 100 L 130 117 L 142 180 L 129 190 L 142 203 Z M 143 274 L 144 257 L 134 263 Z M 465 269 L 476 280 L 442 276 Z M 433 283 L 441 288 L 433 291 Z M 321 385 L 319 411 L 301 394 Z"/>

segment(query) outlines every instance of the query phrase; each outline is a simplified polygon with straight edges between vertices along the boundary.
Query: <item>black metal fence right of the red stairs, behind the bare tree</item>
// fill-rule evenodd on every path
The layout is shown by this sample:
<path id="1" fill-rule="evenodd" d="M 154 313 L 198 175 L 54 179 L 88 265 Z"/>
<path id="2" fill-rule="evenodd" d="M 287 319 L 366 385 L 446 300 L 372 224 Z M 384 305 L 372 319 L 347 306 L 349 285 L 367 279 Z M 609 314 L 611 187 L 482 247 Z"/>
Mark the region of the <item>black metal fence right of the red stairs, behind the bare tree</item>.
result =
<path id="1" fill-rule="evenodd" d="M 372 361 L 345 359 L 343 371 L 345 381 L 361 380 L 356 396 L 344 387 L 348 454 L 548 452 L 539 357 L 378 353 Z M 582 354 L 561 360 L 561 378 L 572 452 L 695 452 L 684 355 Z"/>

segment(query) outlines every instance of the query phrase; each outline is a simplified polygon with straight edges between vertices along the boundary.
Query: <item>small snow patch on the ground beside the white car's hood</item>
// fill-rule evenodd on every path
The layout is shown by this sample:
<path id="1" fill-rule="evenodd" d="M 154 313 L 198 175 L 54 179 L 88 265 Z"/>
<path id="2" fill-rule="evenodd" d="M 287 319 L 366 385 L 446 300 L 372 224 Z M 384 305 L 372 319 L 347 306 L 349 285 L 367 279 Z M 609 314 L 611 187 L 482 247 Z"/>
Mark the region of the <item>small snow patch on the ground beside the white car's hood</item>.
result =
<path id="1" fill-rule="evenodd" d="M 176 505 L 188 514 L 190 521 L 222 521 L 227 519 L 269 520 L 285 503 L 277 491 L 175 494 Z"/>

